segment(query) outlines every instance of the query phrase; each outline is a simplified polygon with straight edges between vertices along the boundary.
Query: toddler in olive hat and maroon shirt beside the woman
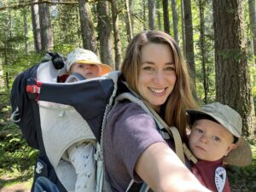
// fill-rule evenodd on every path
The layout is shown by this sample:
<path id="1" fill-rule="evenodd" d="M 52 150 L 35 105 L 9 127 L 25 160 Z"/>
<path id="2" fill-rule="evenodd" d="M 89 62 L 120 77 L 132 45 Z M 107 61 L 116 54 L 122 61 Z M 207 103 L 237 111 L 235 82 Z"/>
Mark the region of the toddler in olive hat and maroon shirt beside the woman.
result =
<path id="1" fill-rule="evenodd" d="M 192 126 L 189 149 L 198 159 L 192 172 L 208 189 L 230 192 L 223 163 L 246 166 L 252 160 L 251 149 L 241 137 L 240 114 L 219 102 L 187 113 Z"/>

